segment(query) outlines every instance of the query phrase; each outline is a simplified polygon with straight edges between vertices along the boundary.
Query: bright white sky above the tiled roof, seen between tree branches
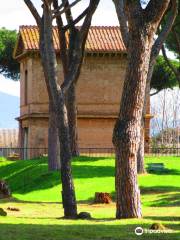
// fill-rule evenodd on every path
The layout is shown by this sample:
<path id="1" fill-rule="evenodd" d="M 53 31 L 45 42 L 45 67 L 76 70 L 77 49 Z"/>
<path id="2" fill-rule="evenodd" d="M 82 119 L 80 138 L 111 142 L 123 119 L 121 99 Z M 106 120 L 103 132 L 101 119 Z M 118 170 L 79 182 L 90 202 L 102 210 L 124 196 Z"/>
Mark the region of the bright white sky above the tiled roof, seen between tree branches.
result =
<path id="1" fill-rule="evenodd" d="M 41 0 L 34 0 L 33 3 L 38 7 L 39 10 L 41 9 Z M 86 7 L 88 3 L 89 1 L 82 0 L 82 3 L 79 3 L 77 7 L 75 7 L 75 15 L 80 12 L 80 9 L 84 9 L 84 7 Z M 35 20 L 23 0 L 6 0 L 3 2 L 0 8 L 0 27 L 6 27 L 8 29 L 18 29 L 20 25 L 30 24 L 35 24 Z M 92 24 L 118 24 L 112 1 L 100 1 L 98 9 L 93 17 Z"/>

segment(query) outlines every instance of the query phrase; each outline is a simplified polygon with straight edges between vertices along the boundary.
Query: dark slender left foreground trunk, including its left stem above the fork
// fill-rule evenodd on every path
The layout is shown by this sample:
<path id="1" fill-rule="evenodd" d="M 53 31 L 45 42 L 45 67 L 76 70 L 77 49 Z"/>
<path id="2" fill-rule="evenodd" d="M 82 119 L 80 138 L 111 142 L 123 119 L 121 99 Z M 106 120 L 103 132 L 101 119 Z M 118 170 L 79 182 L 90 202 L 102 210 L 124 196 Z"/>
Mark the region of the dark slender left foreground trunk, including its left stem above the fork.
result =
<path id="1" fill-rule="evenodd" d="M 44 7 L 40 26 L 40 54 L 49 99 L 52 99 L 60 142 L 62 202 L 66 218 L 77 217 L 75 189 L 71 172 L 71 149 L 64 94 L 58 86 L 56 54 L 53 46 L 51 15 Z M 57 138 L 56 138 L 57 142 Z"/>

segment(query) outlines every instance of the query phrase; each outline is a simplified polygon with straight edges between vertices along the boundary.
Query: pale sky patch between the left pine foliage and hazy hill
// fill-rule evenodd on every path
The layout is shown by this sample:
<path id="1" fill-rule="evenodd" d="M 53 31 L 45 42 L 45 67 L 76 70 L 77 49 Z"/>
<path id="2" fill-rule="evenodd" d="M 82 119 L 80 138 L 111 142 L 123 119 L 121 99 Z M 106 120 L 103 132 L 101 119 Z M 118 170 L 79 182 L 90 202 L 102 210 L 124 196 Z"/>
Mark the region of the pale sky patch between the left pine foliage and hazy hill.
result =
<path id="1" fill-rule="evenodd" d="M 20 96 L 20 82 L 9 80 L 0 75 L 0 92 Z"/>

